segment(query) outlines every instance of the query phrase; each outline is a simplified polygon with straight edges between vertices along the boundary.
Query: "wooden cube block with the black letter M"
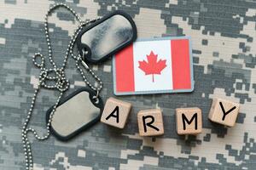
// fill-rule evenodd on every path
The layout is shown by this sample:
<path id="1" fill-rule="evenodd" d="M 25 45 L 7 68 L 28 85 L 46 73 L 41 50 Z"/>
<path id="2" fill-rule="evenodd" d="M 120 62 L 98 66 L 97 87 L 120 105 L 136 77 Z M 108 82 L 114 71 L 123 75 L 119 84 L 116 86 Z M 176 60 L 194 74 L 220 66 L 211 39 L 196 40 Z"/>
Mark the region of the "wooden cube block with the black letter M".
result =
<path id="1" fill-rule="evenodd" d="M 201 109 L 198 107 L 176 109 L 176 128 L 178 134 L 201 133 Z"/>

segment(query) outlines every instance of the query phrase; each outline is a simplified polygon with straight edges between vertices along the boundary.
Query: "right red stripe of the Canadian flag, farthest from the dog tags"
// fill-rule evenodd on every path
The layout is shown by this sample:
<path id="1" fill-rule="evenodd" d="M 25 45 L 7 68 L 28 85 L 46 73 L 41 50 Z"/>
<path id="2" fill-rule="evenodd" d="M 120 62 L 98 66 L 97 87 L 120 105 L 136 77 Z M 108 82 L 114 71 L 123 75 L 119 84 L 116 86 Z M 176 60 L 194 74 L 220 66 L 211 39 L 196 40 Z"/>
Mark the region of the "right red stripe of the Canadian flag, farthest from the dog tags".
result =
<path id="1" fill-rule="evenodd" d="M 172 40 L 171 48 L 173 89 L 191 88 L 189 40 Z"/>

